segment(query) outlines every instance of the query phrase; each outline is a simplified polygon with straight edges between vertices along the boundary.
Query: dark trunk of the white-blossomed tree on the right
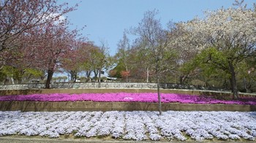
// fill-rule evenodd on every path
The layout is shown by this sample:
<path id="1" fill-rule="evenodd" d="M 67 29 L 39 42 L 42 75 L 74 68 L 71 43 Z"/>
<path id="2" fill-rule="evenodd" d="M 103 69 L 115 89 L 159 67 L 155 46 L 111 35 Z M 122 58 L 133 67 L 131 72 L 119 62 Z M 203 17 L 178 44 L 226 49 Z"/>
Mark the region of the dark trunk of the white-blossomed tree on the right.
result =
<path id="1" fill-rule="evenodd" d="M 237 99 L 238 98 L 238 88 L 237 88 L 237 84 L 236 84 L 236 72 L 234 69 L 234 66 L 232 63 L 229 63 L 230 66 L 230 85 L 231 85 L 231 89 L 232 89 L 232 93 L 233 93 L 233 99 Z"/>

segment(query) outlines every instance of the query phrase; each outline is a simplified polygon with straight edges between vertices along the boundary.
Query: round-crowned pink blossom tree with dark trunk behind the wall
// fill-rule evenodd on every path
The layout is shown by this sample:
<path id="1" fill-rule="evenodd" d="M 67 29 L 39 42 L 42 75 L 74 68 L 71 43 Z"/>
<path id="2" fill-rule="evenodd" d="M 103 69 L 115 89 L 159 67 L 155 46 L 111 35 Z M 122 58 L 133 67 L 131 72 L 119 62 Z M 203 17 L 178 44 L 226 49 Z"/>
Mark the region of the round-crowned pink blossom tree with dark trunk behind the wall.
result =
<path id="1" fill-rule="evenodd" d="M 47 23 L 31 29 L 24 40 L 29 42 L 23 45 L 23 63 L 37 69 L 45 70 L 47 80 L 45 88 L 50 88 L 50 80 L 54 71 L 61 67 L 61 62 L 72 56 L 72 48 L 75 46 L 77 30 L 69 31 L 67 21 L 60 23 Z"/>

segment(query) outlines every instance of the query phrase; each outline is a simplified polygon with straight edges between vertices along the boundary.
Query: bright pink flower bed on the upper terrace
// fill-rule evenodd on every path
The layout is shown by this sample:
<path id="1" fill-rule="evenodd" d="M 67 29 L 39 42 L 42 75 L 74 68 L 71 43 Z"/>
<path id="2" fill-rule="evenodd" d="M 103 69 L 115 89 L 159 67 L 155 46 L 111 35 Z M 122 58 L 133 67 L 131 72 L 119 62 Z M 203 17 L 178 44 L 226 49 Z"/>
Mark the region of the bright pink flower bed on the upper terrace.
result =
<path id="1" fill-rule="evenodd" d="M 256 105 L 256 98 L 240 98 L 236 101 L 218 100 L 209 96 L 162 93 L 162 103 L 181 104 L 248 104 Z M 157 93 L 52 93 L 18 96 L 0 96 L 0 101 L 97 101 L 97 102 L 157 102 Z"/>

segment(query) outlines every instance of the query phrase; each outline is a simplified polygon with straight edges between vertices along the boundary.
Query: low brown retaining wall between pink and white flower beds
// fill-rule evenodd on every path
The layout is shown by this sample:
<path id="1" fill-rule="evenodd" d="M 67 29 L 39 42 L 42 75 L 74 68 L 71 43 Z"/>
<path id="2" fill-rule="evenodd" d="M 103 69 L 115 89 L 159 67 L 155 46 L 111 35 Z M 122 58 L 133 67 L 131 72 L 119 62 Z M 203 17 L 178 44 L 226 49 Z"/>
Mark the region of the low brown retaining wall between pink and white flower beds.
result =
<path id="1" fill-rule="evenodd" d="M 92 101 L 1 101 L 1 111 L 59 112 L 59 111 L 158 111 L 157 103 L 142 102 L 92 102 Z M 234 104 L 162 104 L 162 111 L 256 111 L 255 105 Z"/>

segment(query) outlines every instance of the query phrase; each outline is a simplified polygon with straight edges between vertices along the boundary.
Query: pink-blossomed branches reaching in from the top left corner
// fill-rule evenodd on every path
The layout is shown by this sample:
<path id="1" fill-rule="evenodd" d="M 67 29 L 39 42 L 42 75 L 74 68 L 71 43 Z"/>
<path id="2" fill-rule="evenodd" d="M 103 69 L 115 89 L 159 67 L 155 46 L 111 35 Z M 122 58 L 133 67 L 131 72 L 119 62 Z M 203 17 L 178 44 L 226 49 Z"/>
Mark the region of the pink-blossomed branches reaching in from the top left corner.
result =
<path id="1" fill-rule="evenodd" d="M 16 55 L 19 54 L 16 52 L 27 42 L 22 41 L 20 36 L 26 35 L 31 28 L 59 20 L 75 7 L 68 7 L 67 3 L 57 4 L 56 0 L 1 0 L 0 69 L 17 60 Z"/>

